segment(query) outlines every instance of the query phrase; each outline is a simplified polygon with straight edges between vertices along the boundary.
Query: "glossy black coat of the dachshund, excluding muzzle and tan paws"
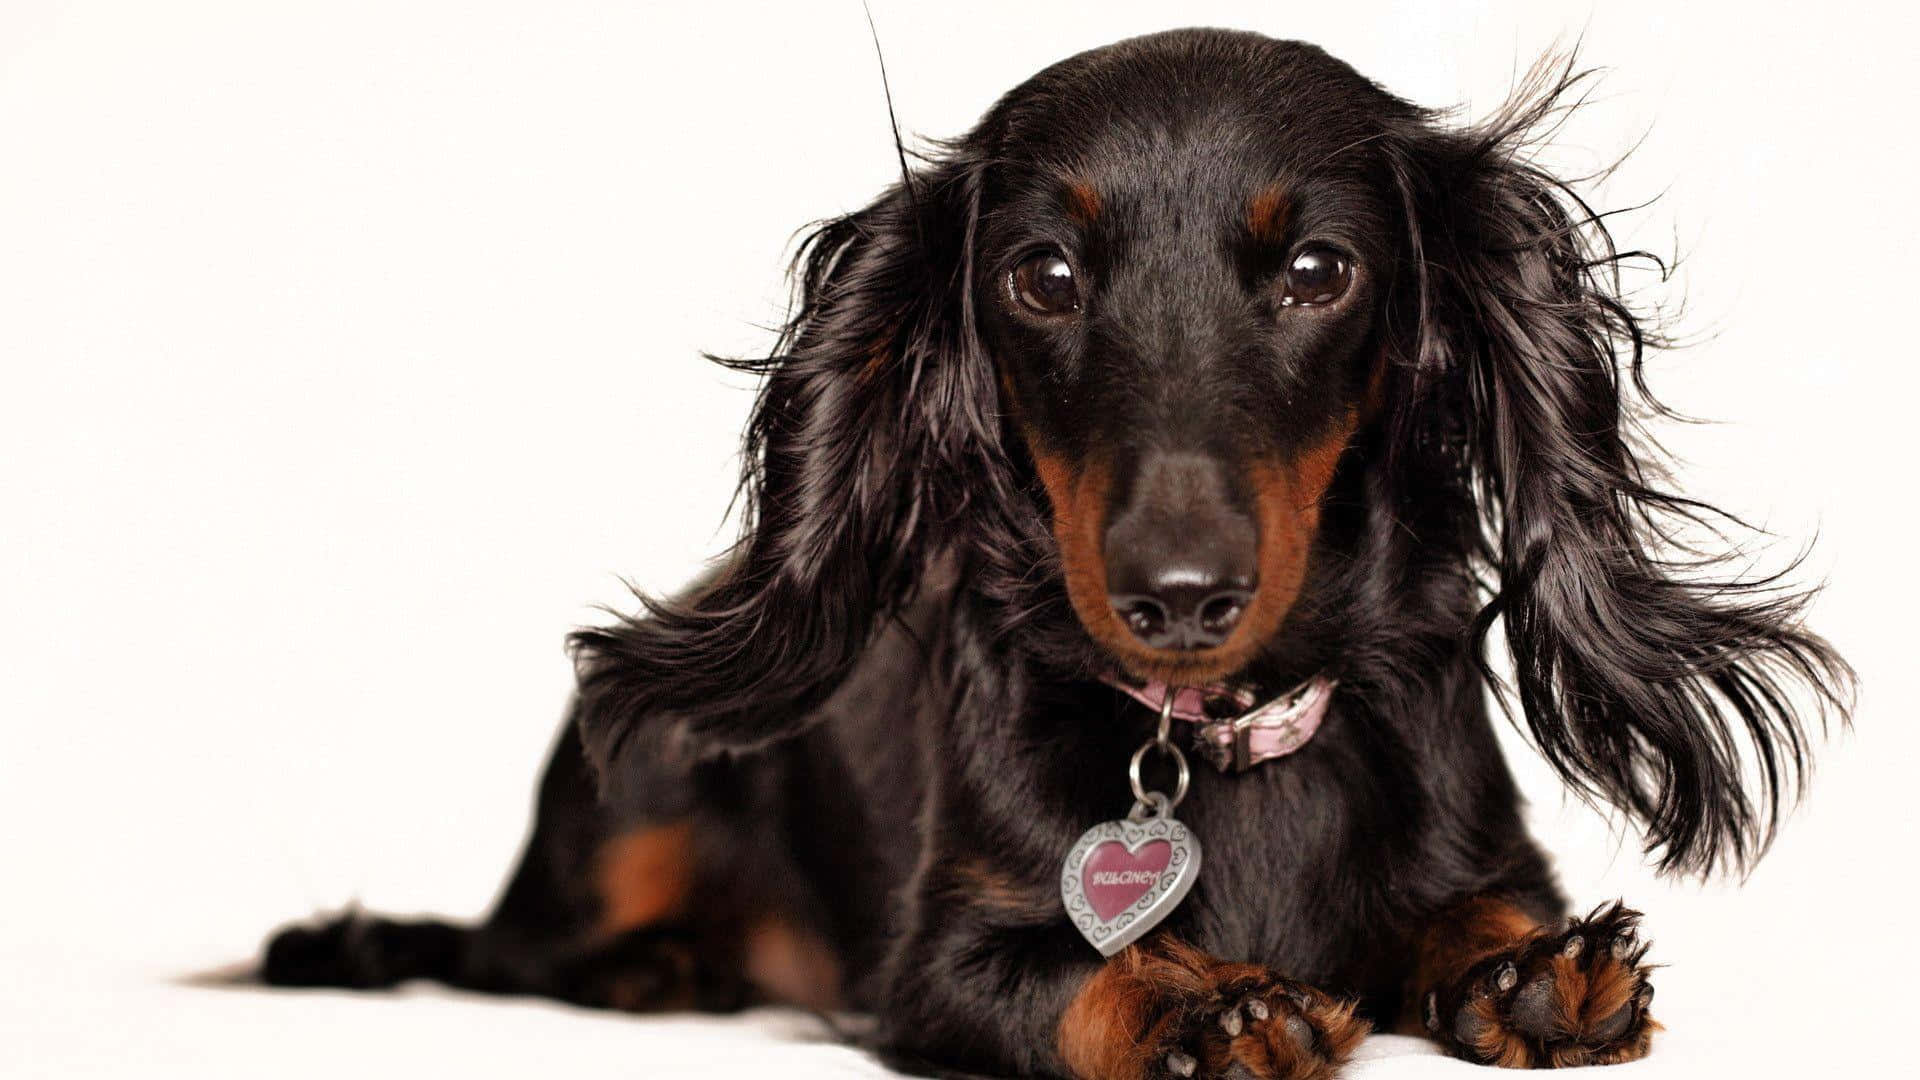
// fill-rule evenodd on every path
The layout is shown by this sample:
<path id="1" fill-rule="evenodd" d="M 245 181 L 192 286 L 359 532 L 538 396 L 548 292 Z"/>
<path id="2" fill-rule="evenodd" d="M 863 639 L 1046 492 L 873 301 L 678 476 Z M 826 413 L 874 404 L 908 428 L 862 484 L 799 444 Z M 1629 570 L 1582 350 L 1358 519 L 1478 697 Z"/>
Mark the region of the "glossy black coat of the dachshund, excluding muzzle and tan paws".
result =
<path id="1" fill-rule="evenodd" d="M 593 851 L 691 819 L 689 940 L 778 907 L 831 945 L 897 1059 L 1062 1070 L 1054 1028 L 1098 957 L 1058 863 L 1125 813 L 1152 715 L 1098 682 L 1125 665 L 1069 605 L 1035 448 L 1187 438 L 1173 394 L 1206 402 L 1194 438 L 1227 459 L 1361 421 L 1300 596 L 1236 671 L 1336 675 L 1334 711 L 1281 763 L 1198 771 L 1181 819 L 1210 861 L 1169 934 L 1386 1020 L 1436 913 L 1496 894 L 1561 915 L 1488 715 L 1496 625 L 1513 686 L 1494 688 L 1574 788 L 1638 819 L 1665 869 L 1749 865 L 1849 676 L 1801 628 L 1803 596 L 1713 578 L 1670 542 L 1724 519 L 1665 488 L 1636 430 L 1657 334 L 1619 286 L 1632 256 L 1526 160 L 1578 81 L 1549 71 L 1457 129 L 1313 46 L 1181 31 L 1012 90 L 806 238 L 778 348 L 733 361 L 766 377 L 747 532 L 710 580 L 572 638 L 574 726 L 493 920 L 411 967 L 342 945 L 296 970 L 311 940 L 282 940 L 267 978 L 593 999 L 553 972 L 655 947 L 591 944 Z M 1054 192 L 1087 175 L 1106 202 L 1075 258 L 1100 300 L 1079 329 L 1023 325 L 1006 271 L 1079 244 Z M 1281 317 L 1273 252 L 1235 231 L 1265 183 L 1290 192 L 1288 229 L 1361 267 L 1319 321 Z M 707 1001 L 753 995 L 735 990 Z"/>

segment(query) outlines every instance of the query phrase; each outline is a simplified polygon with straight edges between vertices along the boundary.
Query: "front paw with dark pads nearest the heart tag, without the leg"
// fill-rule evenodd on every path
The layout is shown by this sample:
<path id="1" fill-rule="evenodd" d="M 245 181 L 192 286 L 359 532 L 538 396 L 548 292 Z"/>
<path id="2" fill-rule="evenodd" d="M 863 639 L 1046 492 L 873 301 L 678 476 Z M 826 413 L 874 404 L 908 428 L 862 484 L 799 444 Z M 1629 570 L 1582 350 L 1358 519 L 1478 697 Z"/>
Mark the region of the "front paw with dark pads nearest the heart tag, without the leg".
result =
<path id="1" fill-rule="evenodd" d="M 1325 1080 L 1367 1034 L 1354 1001 L 1244 969 L 1169 1020 L 1146 1070 L 1162 1080 Z"/>

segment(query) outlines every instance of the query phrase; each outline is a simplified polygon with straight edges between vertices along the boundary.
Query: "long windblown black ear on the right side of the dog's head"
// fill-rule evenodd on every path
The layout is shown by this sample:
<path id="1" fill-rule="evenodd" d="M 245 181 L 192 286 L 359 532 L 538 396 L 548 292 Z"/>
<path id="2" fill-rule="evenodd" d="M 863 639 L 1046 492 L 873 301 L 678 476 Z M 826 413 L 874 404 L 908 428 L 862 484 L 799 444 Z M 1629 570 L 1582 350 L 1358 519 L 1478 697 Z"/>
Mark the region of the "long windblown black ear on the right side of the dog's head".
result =
<path id="1" fill-rule="evenodd" d="M 1851 673 L 1801 628 L 1805 594 L 1728 578 L 1736 519 L 1665 490 L 1636 415 L 1651 332 L 1622 302 L 1611 236 L 1528 165 L 1582 77 L 1536 69 L 1490 123 L 1411 121 L 1388 146 L 1413 244 L 1400 332 L 1407 446 L 1448 457 L 1459 534 L 1498 588 L 1536 746 L 1645 826 L 1663 871 L 1757 859 L 1809 765 L 1812 721 L 1845 715 Z M 1430 498 L 1430 496 L 1428 496 Z"/>

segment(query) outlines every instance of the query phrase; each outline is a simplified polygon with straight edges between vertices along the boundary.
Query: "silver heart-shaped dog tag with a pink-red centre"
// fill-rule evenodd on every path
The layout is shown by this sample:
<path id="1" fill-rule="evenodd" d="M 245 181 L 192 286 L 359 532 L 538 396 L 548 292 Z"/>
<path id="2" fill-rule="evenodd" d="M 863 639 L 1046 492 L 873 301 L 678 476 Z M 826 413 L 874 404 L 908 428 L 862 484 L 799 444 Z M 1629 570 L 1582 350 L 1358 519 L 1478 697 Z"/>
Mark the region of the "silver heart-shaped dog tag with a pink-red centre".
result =
<path id="1" fill-rule="evenodd" d="M 1102 821 L 1060 867 L 1060 901 L 1087 942 L 1110 957 L 1160 924 L 1200 874 L 1200 840 L 1171 817 Z"/>

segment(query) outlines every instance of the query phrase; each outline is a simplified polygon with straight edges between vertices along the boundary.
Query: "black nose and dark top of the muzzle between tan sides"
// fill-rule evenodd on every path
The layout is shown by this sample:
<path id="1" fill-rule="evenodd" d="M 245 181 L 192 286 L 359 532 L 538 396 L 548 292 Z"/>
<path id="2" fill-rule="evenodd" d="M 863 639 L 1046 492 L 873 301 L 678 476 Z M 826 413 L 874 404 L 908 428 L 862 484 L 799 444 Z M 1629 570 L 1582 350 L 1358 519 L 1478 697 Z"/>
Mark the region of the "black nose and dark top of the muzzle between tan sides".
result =
<path id="1" fill-rule="evenodd" d="M 1140 644 L 1208 650 L 1254 601 L 1258 534 L 1221 477 L 1196 455 L 1140 463 L 1106 530 L 1106 592 Z"/>

